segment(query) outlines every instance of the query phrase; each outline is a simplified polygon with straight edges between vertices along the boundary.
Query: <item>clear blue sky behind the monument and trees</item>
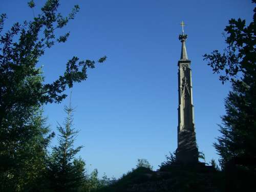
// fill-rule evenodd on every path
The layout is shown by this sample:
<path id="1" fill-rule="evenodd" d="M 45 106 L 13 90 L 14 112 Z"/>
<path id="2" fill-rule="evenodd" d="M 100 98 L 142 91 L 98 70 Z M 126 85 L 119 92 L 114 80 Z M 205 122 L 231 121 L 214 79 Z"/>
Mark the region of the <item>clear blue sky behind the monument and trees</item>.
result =
<path id="1" fill-rule="evenodd" d="M 38 14 L 44 1 L 35 3 Z M 206 162 L 218 160 L 212 143 L 219 136 L 217 124 L 225 114 L 230 85 L 221 84 L 202 55 L 225 47 L 222 32 L 228 19 L 252 20 L 251 1 L 62 0 L 60 4 L 59 11 L 66 14 L 75 4 L 81 9 L 59 32 L 70 31 L 69 40 L 40 58 L 46 82 L 62 74 L 74 55 L 95 60 L 108 56 L 89 71 L 88 80 L 72 88 L 74 123 L 80 130 L 76 145 L 84 145 L 79 155 L 89 172 L 98 168 L 100 176 L 118 178 L 135 167 L 138 158 L 147 159 L 156 169 L 165 154 L 176 150 L 182 20 L 187 24 L 199 151 Z M 33 18 L 27 1 L 1 0 L 0 13 L 8 15 L 5 29 Z M 57 121 L 63 122 L 63 106 L 68 103 L 66 99 L 45 106 L 53 131 Z"/>

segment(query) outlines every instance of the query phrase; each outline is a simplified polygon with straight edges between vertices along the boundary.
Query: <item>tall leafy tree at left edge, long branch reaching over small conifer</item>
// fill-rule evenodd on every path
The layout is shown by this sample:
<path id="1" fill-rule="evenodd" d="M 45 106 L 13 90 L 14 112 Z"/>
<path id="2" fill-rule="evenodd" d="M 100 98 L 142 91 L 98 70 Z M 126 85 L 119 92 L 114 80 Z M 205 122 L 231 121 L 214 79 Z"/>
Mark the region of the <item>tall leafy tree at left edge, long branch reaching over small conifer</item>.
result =
<path id="1" fill-rule="evenodd" d="M 29 7 L 34 6 L 30 1 Z M 73 87 L 74 82 L 86 80 L 88 68 L 96 64 L 74 56 L 67 62 L 63 75 L 52 83 L 44 83 L 41 68 L 36 66 L 39 58 L 55 43 L 68 39 L 70 33 L 57 35 L 56 31 L 65 27 L 79 11 L 76 5 L 68 16 L 62 16 L 57 13 L 58 7 L 58 0 L 47 0 L 31 22 L 15 23 L 4 34 L 7 15 L 0 15 L 0 183 L 3 188 L 8 185 L 15 191 L 25 190 L 20 188 L 24 184 L 19 181 L 24 180 L 26 167 L 35 166 L 30 161 L 38 152 L 34 143 L 40 142 L 37 138 L 44 140 L 42 143 L 49 141 L 49 133 L 46 134 L 44 127 L 36 128 L 32 120 L 37 110 L 44 104 L 61 102 L 67 97 L 63 91 Z M 102 57 L 98 62 L 105 59 Z"/>

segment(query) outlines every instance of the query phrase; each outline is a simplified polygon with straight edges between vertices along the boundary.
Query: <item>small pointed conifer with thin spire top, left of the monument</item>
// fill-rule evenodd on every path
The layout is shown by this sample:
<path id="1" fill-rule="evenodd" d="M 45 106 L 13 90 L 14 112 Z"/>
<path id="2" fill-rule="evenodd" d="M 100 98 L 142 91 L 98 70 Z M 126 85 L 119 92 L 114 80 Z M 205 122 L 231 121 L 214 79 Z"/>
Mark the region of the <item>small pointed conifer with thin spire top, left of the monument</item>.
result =
<path id="1" fill-rule="evenodd" d="M 82 146 L 74 148 L 74 141 L 78 131 L 73 127 L 73 112 L 71 104 L 65 106 L 67 118 L 64 126 L 58 125 L 58 146 L 53 147 L 49 162 L 49 179 L 54 191 L 72 191 L 77 189 L 85 180 L 85 162 L 76 154 Z"/>

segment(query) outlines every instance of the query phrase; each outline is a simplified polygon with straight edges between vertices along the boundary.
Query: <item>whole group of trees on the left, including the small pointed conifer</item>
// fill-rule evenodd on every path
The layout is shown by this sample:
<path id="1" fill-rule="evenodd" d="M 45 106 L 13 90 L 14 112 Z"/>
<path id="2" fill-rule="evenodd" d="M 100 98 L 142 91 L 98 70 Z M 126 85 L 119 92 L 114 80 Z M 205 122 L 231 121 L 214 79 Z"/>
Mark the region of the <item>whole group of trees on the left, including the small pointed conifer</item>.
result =
<path id="1" fill-rule="evenodd" d="M 33 1 L 28 3 L 33 9 Z M 97 62 L 72 57 L 66 71 L 52 83 L 44 82 L 38 59 L 69 33 L 58 36 L 56 30 L 74 19 L 79 6 L 67 16 L 57 13 L 59 1 L 48 0 L 33 20 L 15 23 L 4 30 L 6 14 L 0 15 L 0 191 L 91 191 L 103 185 L 98 172 L 86 172 L 86 164 L 74 148 L 77 131 L 72 125 L 72 106 L 66 106 L 67 118 L 58 126 L 58 145 L 51 150 L 55 136 L 42 116 L 42 107 L 60 103 L 63 92 L 74 82 L 87 79 L 87 70 Z M 103 62 L 106 57 L 98 60 Z M 50 62 L 50 61 L 49 61 Z"/>

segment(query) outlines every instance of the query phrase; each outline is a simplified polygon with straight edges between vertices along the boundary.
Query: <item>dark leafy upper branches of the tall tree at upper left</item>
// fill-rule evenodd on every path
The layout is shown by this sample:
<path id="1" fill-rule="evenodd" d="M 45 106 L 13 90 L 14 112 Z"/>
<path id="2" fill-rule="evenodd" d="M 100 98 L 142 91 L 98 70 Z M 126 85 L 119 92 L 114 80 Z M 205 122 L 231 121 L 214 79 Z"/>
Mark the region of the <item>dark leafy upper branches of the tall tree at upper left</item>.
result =
<path id="1" fill-rule="evenodd" d="M 30 2 L 30 5 L 34 5 L 33 1 Z M 15 83 L 18 84 L 27 77 L 38 75 L 35 66 L 38 62 L 38 58 L 44 54 L 44 50 L 51 48 L 56 42 L 67 41 L 70 35 L 69 32 L 56 38 L 55 31 L 58 28 L 66 26 L 69 20 L 74 18 L 79 10 L 79 6 L 74 6 L 71 13 L 66 17 L 62 16 L 60 13 L 56 13 L 58 6 L 59 1 L 48 0 L 41 9 L 42 14 L 34 17 L 33 22 L 26 22 L 23 26 L 16 23 L 8 33 L 1 36 L 0 42 L 3 45 L 3 52 L 0 54 L 0 69 L 3 69 L 1 75 L 3 78 L 0 78 L 0 80 L 4 87 L 12 86 Z M 3 25 L 6 15 L 3 14 L 1 18 L 0 24 Z M 38 39 L 40 31 L 43 32 L 44 37 Z M 12 39 L 15 35 L 19 35 L 19 41 L 13 44 Z M 1 60 L 1 58 L 3 60 Z M 104 56 L 100 58 L 98 62 L 103 62 L 105 59 L 106 57 Z M 73 57 L 67 63 L 66 72 L 56 81 L 45 85 L 41 83 L 40 86 L 38 84 L 35 89 L 31 89 L 31 87 L 27 87 L 26 84 L 24 84 L 25 87 L 23 89 L 29 89 L 30 91 L 24 91 L 25 94 L 18 94 L 15 91 L 15 94 L 12 95 L 12 101 L 10 102 L 14 104 L 23 101 L 31 105 L 35 104 L 33 102 L 39 102 L 41 104 L 60 102 L 66 97 L 65 94 L 61 94 L 61 92 L 66 90 L 66 86 L 71 88 L 74 82 L 87 79 L 87 68 L 95 68 L 95 61 L 87 59 L 78 62 L 78 58 Z M 7 74 L 5 70 L 10 73 L 8 72 Z M 8 76 L 13 76 L 16 82 L 11 81 Z M 5 92 L 2 94 L 5 94 Z"/>

